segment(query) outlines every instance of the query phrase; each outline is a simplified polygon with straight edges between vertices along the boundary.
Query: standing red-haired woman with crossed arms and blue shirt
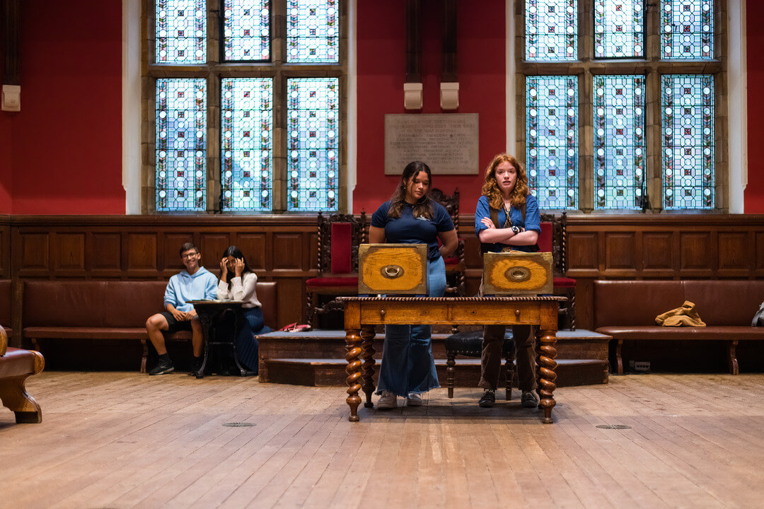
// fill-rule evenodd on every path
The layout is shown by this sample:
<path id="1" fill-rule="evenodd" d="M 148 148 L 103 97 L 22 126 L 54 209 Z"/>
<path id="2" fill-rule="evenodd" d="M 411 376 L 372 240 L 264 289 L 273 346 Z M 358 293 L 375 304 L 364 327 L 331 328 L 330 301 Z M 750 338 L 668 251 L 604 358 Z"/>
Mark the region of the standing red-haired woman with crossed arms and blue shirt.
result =
<path id="1" fill-rule="evenodd" d="M 494 219 L 498 224 L 494 224 Z M 508 250 L 538 251 L 536 242 L 541 233 L 541 215 L 536 196 L 528 188 L 525 169 L 514 156 L 500 153 L 485 170 L 482 196 L 475 208 L 475 234 L 483 246 L 493 253 Z M 483 285 L 481 282 L 481 295 Z M 496 388 L 499 385 L 501 347 L 504 342 L 503 325 L 483 327 L 483 355 L 481 356 L 481 379 L 484 388 L 481 407 L 493 407 Z M 523 407 L 534 408 L 539 404 L 536 394 L 536 355 L 533 349 L 534 327 L 513 325 L 515 340 L 517 378 L 523 391 Z"/>

